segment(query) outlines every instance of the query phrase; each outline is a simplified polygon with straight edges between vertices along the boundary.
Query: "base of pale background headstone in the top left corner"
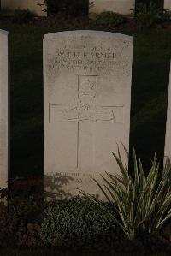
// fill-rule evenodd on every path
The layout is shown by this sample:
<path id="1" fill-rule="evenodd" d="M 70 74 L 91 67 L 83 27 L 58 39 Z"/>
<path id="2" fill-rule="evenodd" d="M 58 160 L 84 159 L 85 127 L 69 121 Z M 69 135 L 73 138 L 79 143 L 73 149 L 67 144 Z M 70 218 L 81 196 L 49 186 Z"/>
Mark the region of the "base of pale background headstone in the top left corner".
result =
<path id="1" fill-rule="evenodd" d="M 45 6 L 39 6 L 38 3 L 43 3 L 41 0 L 1 0 L 1 8 L 3 10 L 13 11 L 15 9 L 30 9 L 38 16 L 46 16 L 43 11 Z"/>

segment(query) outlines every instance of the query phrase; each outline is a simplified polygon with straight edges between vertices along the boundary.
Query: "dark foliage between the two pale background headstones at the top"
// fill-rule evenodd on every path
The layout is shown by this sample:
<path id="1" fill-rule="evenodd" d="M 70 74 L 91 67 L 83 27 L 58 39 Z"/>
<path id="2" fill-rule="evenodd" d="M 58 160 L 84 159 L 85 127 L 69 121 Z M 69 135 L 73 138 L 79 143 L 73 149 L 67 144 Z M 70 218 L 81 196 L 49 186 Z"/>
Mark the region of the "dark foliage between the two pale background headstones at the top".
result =
<path id="1" fill-rule="evenodd" d="M 72 0 L 72 3 L 70 0 L 44 0 L 39 5 L 46 6 L 50 15 L 62 13 L 64 15 L 78 16 L 88 14 L 89 0 Z"/>

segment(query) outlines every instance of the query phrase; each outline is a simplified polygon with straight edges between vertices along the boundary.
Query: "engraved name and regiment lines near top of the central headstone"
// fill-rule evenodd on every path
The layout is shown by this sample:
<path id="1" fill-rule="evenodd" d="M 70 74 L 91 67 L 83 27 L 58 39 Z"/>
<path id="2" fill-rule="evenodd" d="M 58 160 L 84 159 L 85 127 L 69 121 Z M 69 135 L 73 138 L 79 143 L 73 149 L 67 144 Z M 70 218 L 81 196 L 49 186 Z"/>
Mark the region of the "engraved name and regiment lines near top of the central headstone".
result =
<path id="1" fill-rule="evenodd" d="M 89 43 L 87 43 L 89 44 Z M 74 44 L 75 45 L 75 44 Z M 103 46 L 93 46 L 87 51 L 87 45 L 63 45 L 62 48 L 57 49 L 53 54 L 46 53 L 47 58 L 47 75 L 50 80 L 53 80 L 56 73 L 60 70 L 68 70 L 74 72 L 113 72 L 113 74 L 127 76 L 129 74 L 128 67 L 130 60 L 127 58 L 127 48 L 130 42 L 123 40 L 115 40 L 115 51 Z M 74 50 L 71 49 L 74 47 Z"/>

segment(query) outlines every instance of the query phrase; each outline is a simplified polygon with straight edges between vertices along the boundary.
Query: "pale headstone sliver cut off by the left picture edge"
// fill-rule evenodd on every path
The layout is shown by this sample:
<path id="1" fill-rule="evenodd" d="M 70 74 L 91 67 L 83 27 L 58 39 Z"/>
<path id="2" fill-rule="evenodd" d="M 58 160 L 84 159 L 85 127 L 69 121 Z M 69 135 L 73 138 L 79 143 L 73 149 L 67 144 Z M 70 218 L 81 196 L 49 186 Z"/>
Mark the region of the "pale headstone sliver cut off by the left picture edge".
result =
<path id="1" fill-rule="evenodd" d="M 0 188 L 9 178 L 9 33 L 0 30 Z"/>

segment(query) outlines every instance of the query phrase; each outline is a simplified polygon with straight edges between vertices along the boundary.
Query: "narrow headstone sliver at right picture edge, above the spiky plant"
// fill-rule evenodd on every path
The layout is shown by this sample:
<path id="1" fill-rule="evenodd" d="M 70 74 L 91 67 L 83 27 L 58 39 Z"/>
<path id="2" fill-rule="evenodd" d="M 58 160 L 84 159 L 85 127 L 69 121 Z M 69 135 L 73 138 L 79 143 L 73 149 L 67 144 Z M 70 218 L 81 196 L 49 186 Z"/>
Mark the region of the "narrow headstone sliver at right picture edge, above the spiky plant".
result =
<path id="1" fill-rule="evenodd" d="M 168 87 L 168 115 L 166 124 L 166 138 L 164 150 L 164 162 L 169 158 L 171 161 L 171 69 L 170 69 L 170 82 Z"/>

